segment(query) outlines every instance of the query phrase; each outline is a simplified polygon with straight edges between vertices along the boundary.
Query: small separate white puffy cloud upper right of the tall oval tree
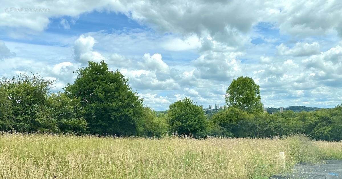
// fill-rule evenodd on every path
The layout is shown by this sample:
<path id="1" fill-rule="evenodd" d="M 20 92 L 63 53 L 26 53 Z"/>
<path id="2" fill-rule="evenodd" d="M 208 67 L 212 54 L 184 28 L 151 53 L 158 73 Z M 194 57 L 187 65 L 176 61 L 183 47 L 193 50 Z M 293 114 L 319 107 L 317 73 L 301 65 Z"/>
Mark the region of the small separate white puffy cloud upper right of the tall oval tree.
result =
<path id="1" fill-rule="evenodd" d="M 284 56 L 310 56 L 319 53 L 319 43 L 303 43 L 297 42 L 292 48 L 281 43 L 276 46 L 279 55 Z"/>

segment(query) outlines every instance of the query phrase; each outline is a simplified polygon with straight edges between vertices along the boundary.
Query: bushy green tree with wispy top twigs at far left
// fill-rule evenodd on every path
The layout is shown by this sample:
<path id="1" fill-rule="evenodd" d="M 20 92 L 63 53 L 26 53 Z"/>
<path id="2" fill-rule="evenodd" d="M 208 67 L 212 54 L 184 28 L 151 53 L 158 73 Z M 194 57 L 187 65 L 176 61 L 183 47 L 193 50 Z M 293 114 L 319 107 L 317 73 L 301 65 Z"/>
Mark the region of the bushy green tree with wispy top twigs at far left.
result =
<path id="1" fill-rule="evenodd" d="M 10 128 L 20 132 L 58 131 L 57 122 L 48 107 L 48 94 L 53 84 L 54 81 L 45 80 L 37 74 L 1 79 L 1 88 L 7 92 L 6 97 L 12 106 L 13 122 Z"/>

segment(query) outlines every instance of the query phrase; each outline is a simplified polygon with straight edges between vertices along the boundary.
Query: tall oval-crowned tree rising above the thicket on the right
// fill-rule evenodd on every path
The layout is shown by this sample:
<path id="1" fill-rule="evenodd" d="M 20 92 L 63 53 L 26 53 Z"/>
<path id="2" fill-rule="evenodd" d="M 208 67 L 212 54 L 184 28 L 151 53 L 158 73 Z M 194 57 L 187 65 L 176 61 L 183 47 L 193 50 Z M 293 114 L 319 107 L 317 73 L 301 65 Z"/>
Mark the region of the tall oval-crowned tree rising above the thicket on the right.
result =
<path id="1" fill-rule="evenodd" d="M 250 77 L 233 79 L 226 91 L 226 105 L 239 108 L 248 113 L 262 112 L 260 87 Z"/>

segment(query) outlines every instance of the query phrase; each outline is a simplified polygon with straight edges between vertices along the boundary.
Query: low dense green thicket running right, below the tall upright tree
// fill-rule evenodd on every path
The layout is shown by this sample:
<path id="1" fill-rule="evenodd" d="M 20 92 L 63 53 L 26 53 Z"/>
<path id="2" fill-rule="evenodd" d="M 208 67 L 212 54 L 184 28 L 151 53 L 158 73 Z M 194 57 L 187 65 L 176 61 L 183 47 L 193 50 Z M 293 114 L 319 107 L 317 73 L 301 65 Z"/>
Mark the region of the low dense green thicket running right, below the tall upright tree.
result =
<path id="1" fill-rule="evenodd" d="M 342 108 L 312 112 L 284 111 L 283 113 L 248 114 L 237 108 L 215 114 L 209 120 L 213 135 L 226 137 L 272 138 L 292 133 L 306 133 L 313 139 L 342 140 Z M 218 135 L 219 134 L 219 135 Z"/>

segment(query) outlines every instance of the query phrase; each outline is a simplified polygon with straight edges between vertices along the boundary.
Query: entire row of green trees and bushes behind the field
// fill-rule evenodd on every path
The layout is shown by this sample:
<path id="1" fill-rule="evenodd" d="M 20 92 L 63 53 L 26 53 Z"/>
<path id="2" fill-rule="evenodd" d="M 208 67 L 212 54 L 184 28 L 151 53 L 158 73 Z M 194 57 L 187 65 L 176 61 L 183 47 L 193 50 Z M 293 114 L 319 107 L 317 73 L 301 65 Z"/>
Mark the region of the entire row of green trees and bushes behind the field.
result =
<path id="1" fill-rule="evenodd" d="M 0 130 L 104 136 L 273 137 L 301 132 L 321 140 L 342 140 L 342 104 L 313 112 L 263 112 L 260 87 L 250 77 L 234 79 L 224 110 L 208 116 L 190 98 L 156 113 L 143 105 L 128 78 L 105 62 L 88 62 L 64 92 L 39 74 L 0 80 Z"/>

